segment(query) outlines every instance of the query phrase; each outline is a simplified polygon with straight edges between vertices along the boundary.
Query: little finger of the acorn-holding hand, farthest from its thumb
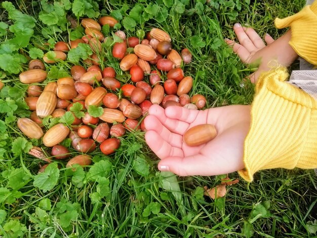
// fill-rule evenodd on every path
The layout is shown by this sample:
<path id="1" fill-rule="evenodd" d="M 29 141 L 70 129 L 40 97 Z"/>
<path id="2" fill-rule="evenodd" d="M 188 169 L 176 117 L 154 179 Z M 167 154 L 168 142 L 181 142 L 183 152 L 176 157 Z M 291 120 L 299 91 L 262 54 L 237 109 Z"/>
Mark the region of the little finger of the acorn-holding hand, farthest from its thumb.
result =
<path id="1" fill-rule="evenodd" d="M 185 107 L 170 106 L 165 109 L 165 115 L 169 118 L 178 119 L 186 123 L 195 121 L 199 110 L 191 110 Z"/>

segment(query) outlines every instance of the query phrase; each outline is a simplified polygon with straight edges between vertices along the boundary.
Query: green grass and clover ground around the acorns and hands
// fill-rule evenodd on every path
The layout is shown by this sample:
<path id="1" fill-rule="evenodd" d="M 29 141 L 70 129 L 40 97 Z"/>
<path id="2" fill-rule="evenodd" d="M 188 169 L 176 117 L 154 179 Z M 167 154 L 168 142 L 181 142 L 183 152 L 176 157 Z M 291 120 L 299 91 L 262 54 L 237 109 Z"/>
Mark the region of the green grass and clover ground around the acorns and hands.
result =
<path id="1" fill-rule="evenodd" d="M 158 1 L 159 6 L 163 2 L 168 1 Z M 304 0 L 211 1 L 199 12 L 196 1 L 191 1 L 179 14 L 173 11 L 177 2 L 171 2 L 174 5 L 165 21 L 150 19 L 137 24 L 130 34 L 161 27 L 170 33 L 175 49 L 188 48 L 193 61 L 184 71 L 195 80 L 193 93 L 206 95 L 208 107 L 252 102 L 253 87 L 240 87 L 250 71 L 222 41 L 224 37 L 234 39 L 232 25 L 241 22 L 261 36 L 268 32 L 276 38 L 284 31 L 273 27 L 273 19 L 298 12 L 305 4 Z M 32 3 L 18 2 L 16 6 L 36 17 L 39 6 Z M 124 4 L 129 12 L 135 1 L 98 4 L 103 13 L 121 9 Z M 1 17 L 8 21 L 5 11 Z M 39 21 L 32 41 L 42 38 L 41 26 Z M 67 32 L 54 37 L 67 39 Z M 5 37 L 0 38 L 0 42 L 5 41 Z M 115 66 L 111 61 L 103 66 L 108 64 Z M 8 75 L 4 80 L 13 86 L 16 78 Z M 18 84 L 15 87 L 26 89 Z M 2 114 L 1 120 L 6 116 Z M 56 186 L 44 192 L 33 186 L 33 176 L 44 163 L 26 153 L 11 153 L 14 138 L 21 134 L 15 122 L 7 127 L 12 139 L 1 145 L 8 152 L 0 161 L 3 237 L 315 237 L 317 179 L 312 171 L 259 172 L 251 184 L 241 180 L 227 187 L 226 196 L 212 200 L 203 195 L 203 187 L 214 187 L 222 176 L 176 178 L 159 173 L 157 158 L 139 132 L 128 134 L 113 156 L 94 152 L 94 162 L 98 163 L 92 167 L 95 174 L 89 169 L 71 173 L 60 163 Z M 140 156 L 146 163 L 138 167 L 136 161 L 144 161 Z M 236 173 L 229 177 L 239 178 Z"/>

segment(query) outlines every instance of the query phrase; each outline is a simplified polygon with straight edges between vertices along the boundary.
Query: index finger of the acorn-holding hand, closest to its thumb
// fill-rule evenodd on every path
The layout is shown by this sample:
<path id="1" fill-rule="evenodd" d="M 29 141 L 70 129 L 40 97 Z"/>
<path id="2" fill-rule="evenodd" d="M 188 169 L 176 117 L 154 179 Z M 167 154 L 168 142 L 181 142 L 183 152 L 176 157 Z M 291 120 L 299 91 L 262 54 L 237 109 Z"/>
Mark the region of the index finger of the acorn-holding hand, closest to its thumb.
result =
<path id="1" fill-rule="evenodd" d="M 145 133 L 145 141 L 157 157 L 161 159 L 169 156 L 184 156 L 180 148 L 170 145 L 155 131 L 147 131 Z"/>

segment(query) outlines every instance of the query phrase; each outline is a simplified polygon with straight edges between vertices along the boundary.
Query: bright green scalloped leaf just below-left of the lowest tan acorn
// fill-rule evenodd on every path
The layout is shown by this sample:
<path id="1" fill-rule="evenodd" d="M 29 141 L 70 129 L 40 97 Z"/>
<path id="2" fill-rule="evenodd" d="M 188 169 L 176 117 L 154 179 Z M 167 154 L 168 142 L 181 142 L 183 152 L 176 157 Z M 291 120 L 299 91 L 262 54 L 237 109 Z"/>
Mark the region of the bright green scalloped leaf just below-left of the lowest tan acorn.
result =
<path id="1" fill-rule="evenodd" d="M 34 177 L 33 185 L 47 192 L 55 187 L 59 178 L 59 169 L 56 163 L 49 164 L 43 173 L 37 174 Z"/>

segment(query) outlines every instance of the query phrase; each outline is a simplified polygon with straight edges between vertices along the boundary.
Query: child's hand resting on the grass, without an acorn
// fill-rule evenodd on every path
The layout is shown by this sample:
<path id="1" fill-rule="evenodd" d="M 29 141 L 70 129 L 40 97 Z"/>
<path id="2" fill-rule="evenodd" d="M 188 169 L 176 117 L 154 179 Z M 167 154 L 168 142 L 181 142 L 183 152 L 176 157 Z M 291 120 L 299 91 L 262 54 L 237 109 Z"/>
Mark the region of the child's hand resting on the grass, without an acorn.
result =
<path id="1" fill-rule="evenodd" d="M 240 44 L 230 39 L 226 39 L 226 43 L 232 46 L 234 53 L 239 55 L 242 62 L 246 64 L 259 60 L 260 65 L 258 70 L 249 76 L 253 83 L 257 81 L 261 72 L 267 71 L 272 67 L 277 67 L 279 64 L 289 66 L 298 57 L 289 45 L 291 39 L 290 30 L 276 39 L 276 41 L 266 34 L 264 41 L 267 46 L 265 46 L 261 37 L 252 28 L 242 27 L 239 23 L 236 23 L 233 26 L 233 30 Z"/>

